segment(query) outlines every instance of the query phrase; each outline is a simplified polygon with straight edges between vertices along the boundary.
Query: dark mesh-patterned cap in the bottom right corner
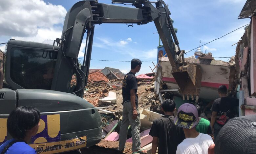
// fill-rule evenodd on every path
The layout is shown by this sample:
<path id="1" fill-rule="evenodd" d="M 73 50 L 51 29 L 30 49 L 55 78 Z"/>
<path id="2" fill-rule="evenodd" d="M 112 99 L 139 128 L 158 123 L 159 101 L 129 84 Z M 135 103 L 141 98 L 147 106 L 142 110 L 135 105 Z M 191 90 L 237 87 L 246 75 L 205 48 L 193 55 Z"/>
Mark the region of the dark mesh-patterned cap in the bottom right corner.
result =
<path id="1" fill-rule="evenodd" d="M 256 115 L 230 119 L 219 131 L 214 152 L 218 154 L 256 153 Z"/>

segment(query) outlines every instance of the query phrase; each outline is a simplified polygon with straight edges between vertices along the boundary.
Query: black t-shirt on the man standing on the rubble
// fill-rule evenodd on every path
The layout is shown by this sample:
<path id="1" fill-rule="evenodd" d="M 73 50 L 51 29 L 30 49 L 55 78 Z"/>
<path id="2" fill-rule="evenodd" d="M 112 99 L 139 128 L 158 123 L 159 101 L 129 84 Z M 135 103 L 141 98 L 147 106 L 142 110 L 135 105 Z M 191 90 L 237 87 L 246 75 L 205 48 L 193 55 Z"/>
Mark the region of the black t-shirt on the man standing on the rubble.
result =
<path id="1" fill-rule="evenodd" d="M 139 105 L 138 95 L 137 95 L 138 81 L 135 74 L 133 74 L 133 72 L 127 73 L 123 79 L 123 87 L 122 87 L 123 103 L 128 100 L 131 100 L 131 89 L 135 89 L 135 96 L 136 96 L 135 104 L 136 106 L 138 106 Z"/>

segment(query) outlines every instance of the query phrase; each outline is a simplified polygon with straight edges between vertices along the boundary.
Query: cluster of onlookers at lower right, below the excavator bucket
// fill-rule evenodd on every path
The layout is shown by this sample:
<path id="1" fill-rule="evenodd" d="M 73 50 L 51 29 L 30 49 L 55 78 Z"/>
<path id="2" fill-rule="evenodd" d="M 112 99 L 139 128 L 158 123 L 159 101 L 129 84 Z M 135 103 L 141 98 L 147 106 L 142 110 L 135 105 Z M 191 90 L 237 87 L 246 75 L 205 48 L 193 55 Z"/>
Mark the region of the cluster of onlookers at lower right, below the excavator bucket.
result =
<path id="1" fill-rule="evenodd" d="M 159 154 L 256 153 L 256 116 L 234 117 L 238 99 L 226 96 L 224 85 L 218 91 L 211 122 L 200 117 L 200 106 L 189 103 L 182 104 L 174 117 L 175 102 L 165 100 L 161 107 L 165 115 L 153 122 L 149 133 L 152 154 L 157 147 Z"/>

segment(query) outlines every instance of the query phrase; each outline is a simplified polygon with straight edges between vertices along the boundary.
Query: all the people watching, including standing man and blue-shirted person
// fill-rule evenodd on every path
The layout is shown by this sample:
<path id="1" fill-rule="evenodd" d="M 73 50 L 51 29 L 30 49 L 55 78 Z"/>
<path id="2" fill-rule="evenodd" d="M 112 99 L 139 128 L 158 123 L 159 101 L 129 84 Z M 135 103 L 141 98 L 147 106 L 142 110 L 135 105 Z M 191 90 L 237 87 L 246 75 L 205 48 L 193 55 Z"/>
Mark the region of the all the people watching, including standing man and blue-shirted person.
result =
<path id="1" fill-rule="evenodd" d="M 123 151 L 128 126 L 132 130 L 132 152 L 147 153 L 142 149 L 140 132 L 139 101 L 135 74 L 141 67 L 139 59 L 131 61 L 131 71 L 123 80 L 123 118 L 119 133 L 119 147 Z M 174 117 L 176 104 L 164 100 L 161 110 L 164 116 L 156 119 L 149 135 L 152 140 L 152 154 L 252 154 L 256 153 L 256 116 L 235 117 L 236 98 L 227 96 L 227 88 L 218 89 L 220 98 L 211 107 L 211 121 L 200 117 L 202 109 L 193 104 L 182 104 Z M 32 154 L 36 151 L 29 143 L 40 125 L 40 112 L 31 106 L 21 106 L 13 110 L 7 120 L 7 130 L 13 139 L 0 146 L 1 154 Z"/>

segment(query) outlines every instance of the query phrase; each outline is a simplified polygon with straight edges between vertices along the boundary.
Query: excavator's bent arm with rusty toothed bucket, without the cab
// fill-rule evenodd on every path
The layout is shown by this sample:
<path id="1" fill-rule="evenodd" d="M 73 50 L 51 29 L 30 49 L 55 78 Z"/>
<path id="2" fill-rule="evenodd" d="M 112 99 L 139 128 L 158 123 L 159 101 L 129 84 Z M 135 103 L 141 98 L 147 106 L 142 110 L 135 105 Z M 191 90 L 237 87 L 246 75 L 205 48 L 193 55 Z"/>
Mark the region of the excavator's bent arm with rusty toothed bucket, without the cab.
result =
<path id="1" fill-rule="evenodd" d="M 164 1 L 150 2 L 149 0 L 112 0 L 112 3 L 128 3 L 136 8 L 122 7 L 98 3 L 96 0 L 80 1 L 67 13 L 62 32 L 59 48 L 63 57 L 76 59 L 81 46 L 82 38 L 86 33 L 86 49 L 81 70 L 88 75 L 92 53 L 94 26 L 103 23 L 127 23 L 143 25 L 154 21 L 160 39 L 163 43 L 170 64 L 172 74 L 180 87 L 183 95 L 194 95 L 198 100 L 200 92 L 201 76 L 200 68 L 196 65 L 187 65 L 184 61 L 184 50 L 180 50 L 179 42 L 174 31 L 171 14 Z M 155 6 L 153 5 L 155 3 Z M 60 65 L 61 66 L 61 65 Z M 61 71 L 61 70 L 60 70 Z M 58 74 L 63 74 L 59 72 Z M 81 73 L 82 74 L 82 73 Z M 199 75 L 198 75 L 199 74 Z M 55 74 L 56 87 L 60 85 L 59 77 Z M 87 84 L 86 77 L 82 79 L 84 86 Z M 80 82 L 80 83 L 81 83 Z M 83 87 L 83 86 L 81 86 Z M 81 94 L 83 90 L 81 91 Z"/>

